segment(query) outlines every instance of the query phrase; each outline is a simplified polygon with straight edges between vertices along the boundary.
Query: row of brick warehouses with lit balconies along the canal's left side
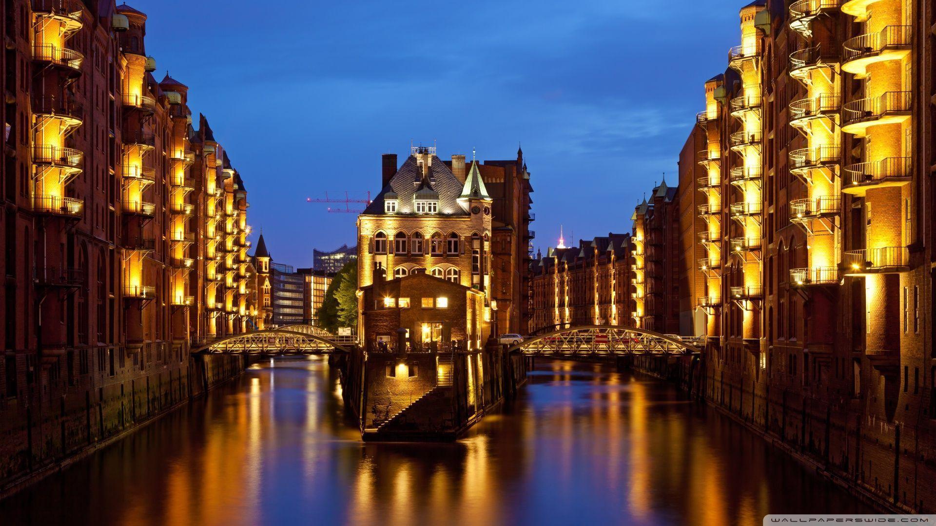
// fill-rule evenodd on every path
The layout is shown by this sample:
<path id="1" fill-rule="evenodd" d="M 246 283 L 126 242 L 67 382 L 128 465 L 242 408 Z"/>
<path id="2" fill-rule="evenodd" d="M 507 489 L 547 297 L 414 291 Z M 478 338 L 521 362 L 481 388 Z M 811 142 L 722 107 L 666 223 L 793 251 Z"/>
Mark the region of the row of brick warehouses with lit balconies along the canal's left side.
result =
<path id="1" fill-rule="evenodd" d="M 139 413 L 118 411 L 124 395 L 179 387 L 190 348 L 244 330 L 254 301 L 240 175 L 207 121 L 193 127 L 187 88 L 153 77 L 146 15 L 75 0 L 0 9 L 2 481 L 125 426 Z M 88 403 L 98 428 L 53 432 Z"/>

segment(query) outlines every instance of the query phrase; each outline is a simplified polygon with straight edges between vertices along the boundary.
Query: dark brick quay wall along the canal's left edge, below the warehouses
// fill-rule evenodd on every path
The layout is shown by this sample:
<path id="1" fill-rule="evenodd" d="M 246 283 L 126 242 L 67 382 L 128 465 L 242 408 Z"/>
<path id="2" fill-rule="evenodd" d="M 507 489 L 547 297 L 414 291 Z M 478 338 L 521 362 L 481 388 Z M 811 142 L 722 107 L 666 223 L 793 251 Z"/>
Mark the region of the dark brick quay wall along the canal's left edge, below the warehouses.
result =
<path id="1" fill-rule="evenodd" d="M 6 401 L 0 406 L 0 499 L 205 396 L 246 366 L 242 355 L 197 354 L 129 378 L 88 375 L 80 384 L 39 390 L 22 405 Z"/>

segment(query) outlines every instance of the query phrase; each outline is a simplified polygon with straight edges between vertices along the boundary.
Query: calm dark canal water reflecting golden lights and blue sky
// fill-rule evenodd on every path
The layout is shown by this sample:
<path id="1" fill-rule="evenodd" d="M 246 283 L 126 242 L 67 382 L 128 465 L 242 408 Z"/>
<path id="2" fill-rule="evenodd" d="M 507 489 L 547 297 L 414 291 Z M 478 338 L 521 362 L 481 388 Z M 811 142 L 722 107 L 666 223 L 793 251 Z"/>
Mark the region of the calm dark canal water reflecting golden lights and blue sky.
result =
<path id="1" fill-rule="evenodd" d="M 673 387 L 541 361 L 455 444 L 362 444 L 324 358 L 255 366 L 62 475 L 0 523 L 760 524 L 870 511 Z"/>

